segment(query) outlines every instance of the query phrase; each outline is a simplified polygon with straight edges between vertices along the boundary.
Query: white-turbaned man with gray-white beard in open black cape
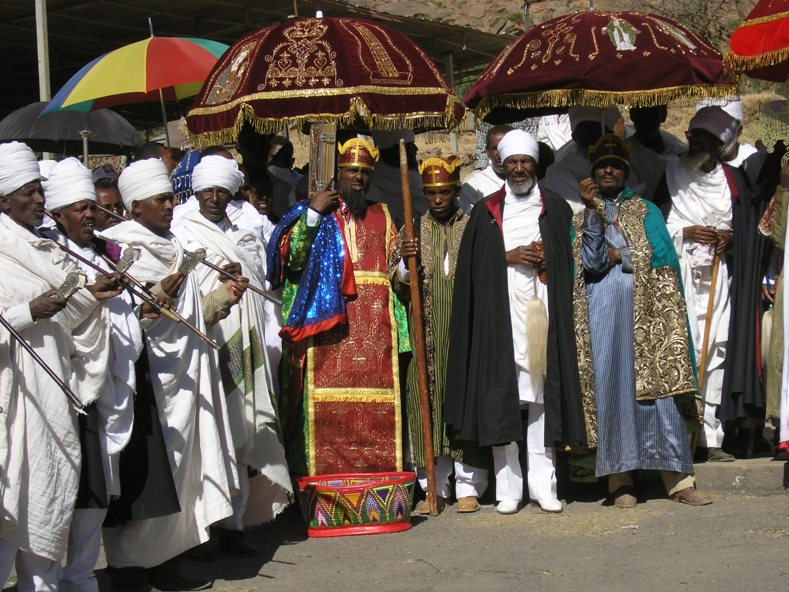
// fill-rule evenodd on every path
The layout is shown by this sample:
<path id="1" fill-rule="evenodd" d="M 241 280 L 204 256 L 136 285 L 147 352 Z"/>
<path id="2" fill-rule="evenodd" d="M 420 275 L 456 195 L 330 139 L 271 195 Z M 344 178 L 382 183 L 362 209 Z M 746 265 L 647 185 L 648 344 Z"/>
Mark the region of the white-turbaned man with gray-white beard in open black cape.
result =
<path id="1" fill-rule="evenodd" d="M 533 136 L 514 129 L 498 149 L 507 182 L 473 209 L 458 252 L 443 419 L 464 440 L 492 445 L 496 509 L 514 514 L 523 497 L 525 411 L 529 497 L 543 511 L 560 512 L 553 447 L 585 439 L 572 210 L 537 185 Z"/>

